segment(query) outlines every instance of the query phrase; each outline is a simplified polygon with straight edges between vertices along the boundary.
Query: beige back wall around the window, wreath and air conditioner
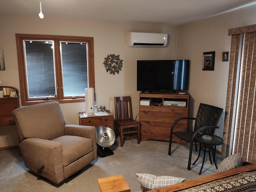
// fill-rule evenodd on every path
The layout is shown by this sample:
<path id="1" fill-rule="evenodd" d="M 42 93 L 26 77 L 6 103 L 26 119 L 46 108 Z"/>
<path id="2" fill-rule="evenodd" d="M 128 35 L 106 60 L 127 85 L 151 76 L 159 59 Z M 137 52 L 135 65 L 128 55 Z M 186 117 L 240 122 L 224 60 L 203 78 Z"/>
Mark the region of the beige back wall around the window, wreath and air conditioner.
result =
<path id="1" fill-rule="evenodd" d="M 114 96 L 132 97 L 134 118 L 138 114 L 139 92 L 136 91 L 136 60 L 175 59 L 176 27 L 119 23 L 68 18 L 40 19 L 32 16 L 0 14 L 0 48 L 4 49 L 6 70 L 0 71 L 1 86 L 14 86 L 20 90 L 16 51 L 16 33 L 52 34 L 94 37 L 95 93 L 98 106 L 105 105 L 114 114 Z M 169 34 L 166 48 L 130 48 L 128 32 L 158 32 Z M 106 72 L 103 61 L 108 54 L 120 55 L 123 68 L 119 74 Z M 84 102 L 61 104 L 68 124 L 78 124 L 78 112 Z M 0 147 L 18 144 L 15 128 L 0 129 Z"/>

